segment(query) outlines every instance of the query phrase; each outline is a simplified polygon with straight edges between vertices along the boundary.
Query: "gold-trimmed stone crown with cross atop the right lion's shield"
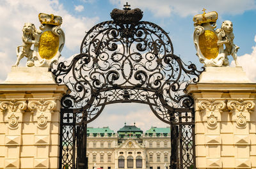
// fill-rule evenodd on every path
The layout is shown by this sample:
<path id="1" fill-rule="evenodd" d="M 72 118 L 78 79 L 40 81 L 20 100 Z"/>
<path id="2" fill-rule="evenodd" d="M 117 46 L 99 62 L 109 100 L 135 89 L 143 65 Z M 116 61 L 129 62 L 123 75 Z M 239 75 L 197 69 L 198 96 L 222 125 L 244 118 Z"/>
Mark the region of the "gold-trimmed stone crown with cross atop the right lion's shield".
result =
<path id="1" fill-rule="evenodd" d="M 210 11 L 209 13 L 205 13 L 205 8 L 203 14 L 195 15 L 193 18 L 193 21 L 195 24 L 201 25 L 204 23 L 209 23 L 209 22 L 216 22 L 218 19 L 218 13 L 216 11 Z"/>

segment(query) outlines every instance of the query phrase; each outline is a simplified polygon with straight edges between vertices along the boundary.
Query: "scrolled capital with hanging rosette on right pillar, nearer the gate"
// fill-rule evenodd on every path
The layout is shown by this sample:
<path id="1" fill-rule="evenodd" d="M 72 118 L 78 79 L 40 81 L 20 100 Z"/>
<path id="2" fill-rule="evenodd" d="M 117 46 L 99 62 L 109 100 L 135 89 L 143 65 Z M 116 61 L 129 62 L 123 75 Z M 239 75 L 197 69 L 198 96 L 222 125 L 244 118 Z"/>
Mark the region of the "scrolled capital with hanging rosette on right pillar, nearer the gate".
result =
<path id="1" fill-rule="evenodd" d="M 198 103 L 198 108 L 201 112 L 206 112 L 207 114 L 207 124 L 209 128 L 216 128 L 218 116 L 216 112 L 222 112 L 226 107 L 225 101 L 207 99 L 202 100 Z"/>

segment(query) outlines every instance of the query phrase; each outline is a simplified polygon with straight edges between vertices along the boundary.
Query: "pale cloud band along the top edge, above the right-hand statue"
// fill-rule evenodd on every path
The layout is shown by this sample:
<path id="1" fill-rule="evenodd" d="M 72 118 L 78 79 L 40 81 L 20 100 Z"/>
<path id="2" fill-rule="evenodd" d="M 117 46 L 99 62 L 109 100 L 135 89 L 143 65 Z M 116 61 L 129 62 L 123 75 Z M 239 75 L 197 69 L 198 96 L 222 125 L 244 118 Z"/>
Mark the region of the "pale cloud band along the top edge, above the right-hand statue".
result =
<path id="1" fill-rule="evenodd" d="M 119 8 L 123 8 L 123 5 L 127 0 L 109 0 L 113 4 L 117 4 Z M 141 8 L 141 10 L 152 11 L 155 17 L 170 17 L 170 15 L 180 15 L 186 17 L 188 15 L 195 15 L 202 13 L 202 9 L 206 8 L 207 11 L 217 11 L 218 13 L 238 14 L 243 13 L 245 10 L 252 10 L 256 8 L 254 0 L 215 0 L 215 1 L 203 1 L 203 0 L 130 0 L 131 8 Z"/>

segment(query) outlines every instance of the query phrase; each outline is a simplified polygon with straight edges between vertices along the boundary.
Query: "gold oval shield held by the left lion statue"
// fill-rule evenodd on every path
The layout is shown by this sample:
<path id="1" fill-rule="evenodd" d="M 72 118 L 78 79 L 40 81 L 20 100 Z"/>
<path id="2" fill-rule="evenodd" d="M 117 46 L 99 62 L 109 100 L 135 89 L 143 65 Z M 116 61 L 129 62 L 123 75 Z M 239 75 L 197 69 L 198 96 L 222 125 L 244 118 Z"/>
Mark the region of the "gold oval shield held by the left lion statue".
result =
<path id="1" fill-rule="evenodd" d="M 58 52 L 59 37 L 51 31 L 42 33 L 39 40 L 38 52 L 42 59 L 52 59 Z"/>

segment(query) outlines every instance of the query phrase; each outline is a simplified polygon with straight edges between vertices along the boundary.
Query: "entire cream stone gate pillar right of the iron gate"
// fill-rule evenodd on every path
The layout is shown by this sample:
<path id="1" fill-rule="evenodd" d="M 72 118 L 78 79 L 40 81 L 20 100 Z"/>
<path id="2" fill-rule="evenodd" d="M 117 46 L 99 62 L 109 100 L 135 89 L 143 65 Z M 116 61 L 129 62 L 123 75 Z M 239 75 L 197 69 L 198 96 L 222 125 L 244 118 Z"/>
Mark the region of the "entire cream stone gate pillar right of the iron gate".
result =
<path id="1" fill-rule="evenodd" d="M 209 67 L 195 99 L 196 168 L 256 168 L 256 84 L 241 67 Z"/>

